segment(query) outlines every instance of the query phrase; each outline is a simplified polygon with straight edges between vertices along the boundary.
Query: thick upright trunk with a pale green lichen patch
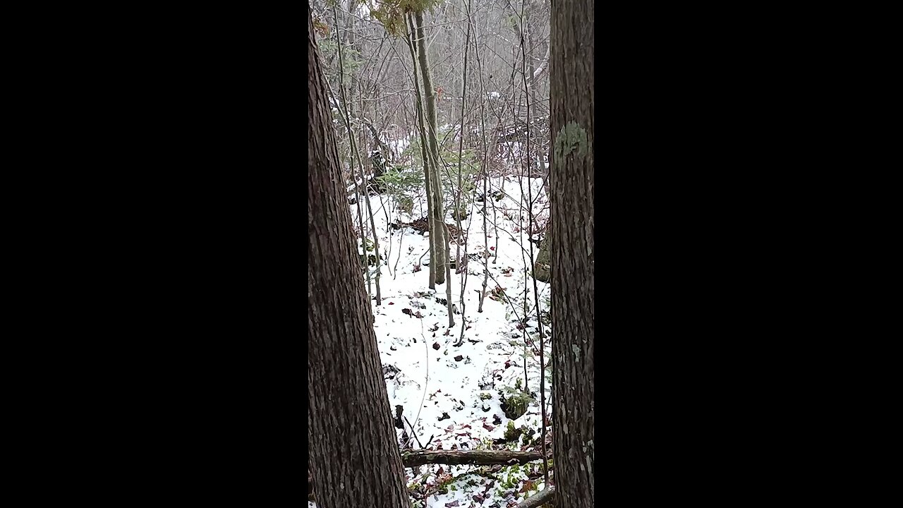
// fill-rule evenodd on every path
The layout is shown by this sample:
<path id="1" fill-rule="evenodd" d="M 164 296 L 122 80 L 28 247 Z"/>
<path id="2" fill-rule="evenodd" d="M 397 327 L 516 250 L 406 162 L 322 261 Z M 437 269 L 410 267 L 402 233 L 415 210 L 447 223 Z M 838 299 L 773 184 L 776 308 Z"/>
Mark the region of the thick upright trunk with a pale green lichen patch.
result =
<path id="1" fill-rule="evenodd" d="M 558 508 L 595 505 L 593 5 L 591 0 L 552 0 L 551 272 Z"/>

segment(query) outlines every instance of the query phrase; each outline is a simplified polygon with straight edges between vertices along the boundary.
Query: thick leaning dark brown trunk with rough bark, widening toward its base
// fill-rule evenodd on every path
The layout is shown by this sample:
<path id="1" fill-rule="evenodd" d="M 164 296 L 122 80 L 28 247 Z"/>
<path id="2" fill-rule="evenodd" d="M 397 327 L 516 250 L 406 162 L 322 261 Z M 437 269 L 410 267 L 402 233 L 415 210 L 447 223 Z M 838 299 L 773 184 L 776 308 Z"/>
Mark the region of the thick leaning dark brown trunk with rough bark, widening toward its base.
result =
<path id="1" fill-rule="evenodd" d="M 408 508 L 308 13 L 308 466 L 321 508 Z"/>

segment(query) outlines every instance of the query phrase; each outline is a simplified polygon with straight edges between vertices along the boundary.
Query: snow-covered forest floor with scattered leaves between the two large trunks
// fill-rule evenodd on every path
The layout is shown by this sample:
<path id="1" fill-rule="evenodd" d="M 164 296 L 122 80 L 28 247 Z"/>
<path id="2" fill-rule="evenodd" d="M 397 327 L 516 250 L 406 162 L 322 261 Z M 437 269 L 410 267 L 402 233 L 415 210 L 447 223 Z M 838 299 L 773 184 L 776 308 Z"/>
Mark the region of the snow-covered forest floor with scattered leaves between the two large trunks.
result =
<path id="1" fill-rule="evenodd" d="M 428 236 L 411 227 L 390 227 L 391 223 L 425 217 L 418 205 L 422 198 L 412 196 L 411 215 L 401 212 L 396 200 L 386 194 L 370 196 L 379 250 L 386 259 L 381 265 L 380 305 L 375 301 L 376 288 L 370 289 L 374 328 L 389 403 L 393 409 L 402 406 L 403 416 L 414 426 L 416 439 L 411 436 L 406 445 L 414 449 L 542 451 L 540 335 L 530 276 L 539 244 L 533 244 L 530 259 L 527 185 L 533 198 L 534 231 L 545 225 L 548 202 L 541 179 L 506 176 L 490 182 L 486 201 L 479 201 L 482 183 L 477 183 L 476 197 L 471 196 L 468 203 L 468 218 L 461 221 L 468 239 L 466 253 L 461 245 L 461 258 L 468 259 L 464 266 L 467 280 L 461 314 L 462 274 L 452 269 L 452 303 L 458 314 L 453 314 L 451 330 L 445 303 L 448 281 L 436 285 L 435 290 L 428 287 L 429 254 L 424 256 L 429 250 Z M 489 245 L 483 236 L 483 215 L 478 212 L 484 204 Z M 362 202 L 361 207 L 368 221 L 366 204 Z M 349 208 L 357 225 L 357 205 Z M 455 223 L 450 213 L 445 216 L 448 223 Z M 372 238 L 372 232 L 368 237 Z M 451 248 L 455 259 L 454 242 Z M 478 313 L 487 252 L 487 296 L 483 312 Z M 424 264 L 418 267 L 422 256 Z M 374 266 L 369 269 L 376 270 Z M 549 286 L 539 281 L 536 286 L 539 315 L 544 315 L 545 403 L 546 415 L 550 415 Z M 412 434 L 408 423 L 404 431 L 396 429 L 396 433 L 399 447 L 405 447 L 403 434 Z M 545 485 L 541 461 L 525 466 L 419 466 L 406 468 L 405 480 L 412 498 L 420 500 L 414 506 L 420 508 L 507 508 Z"/>

